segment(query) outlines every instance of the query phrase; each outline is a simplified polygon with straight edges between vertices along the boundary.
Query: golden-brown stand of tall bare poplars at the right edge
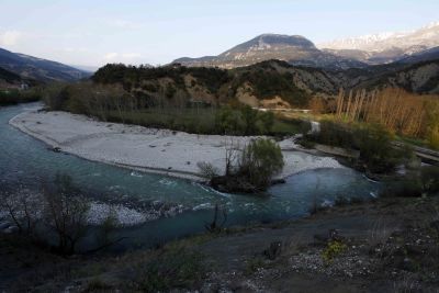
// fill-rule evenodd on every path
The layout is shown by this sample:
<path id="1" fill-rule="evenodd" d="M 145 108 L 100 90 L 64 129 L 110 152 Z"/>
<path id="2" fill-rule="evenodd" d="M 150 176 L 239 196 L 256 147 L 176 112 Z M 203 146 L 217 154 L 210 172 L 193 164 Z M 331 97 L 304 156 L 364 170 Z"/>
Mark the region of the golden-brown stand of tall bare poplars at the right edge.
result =
<path id="1" fill-rule="evenodd" d="M 380 124 L 393 134 L 426 138 L 431 147 L 439 147 L 437 95 L 419 95 L 393 88 L 350 91 L 349 94 L 340 90 L 335 113 L 345 122 Z"/>

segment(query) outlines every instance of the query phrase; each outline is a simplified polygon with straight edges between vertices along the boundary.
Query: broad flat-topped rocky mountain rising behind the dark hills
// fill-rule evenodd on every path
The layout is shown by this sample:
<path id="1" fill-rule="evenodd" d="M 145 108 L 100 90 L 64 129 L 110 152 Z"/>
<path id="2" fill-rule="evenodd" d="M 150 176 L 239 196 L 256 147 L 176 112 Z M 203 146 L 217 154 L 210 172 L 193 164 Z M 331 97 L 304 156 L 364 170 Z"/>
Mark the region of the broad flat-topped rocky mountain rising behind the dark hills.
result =
<path id="1" fill-rule="evenodd" d="M 218 56 L 179 58 L 173 64 L 189 67 L 236 68 L 263 60 L 278 59 L 292 65 L 344 69 L 364 67 L 352 58 L 340 57 L 319 50 L 311 41 L 300 35 L 262 34 L 239 44 Z"/>

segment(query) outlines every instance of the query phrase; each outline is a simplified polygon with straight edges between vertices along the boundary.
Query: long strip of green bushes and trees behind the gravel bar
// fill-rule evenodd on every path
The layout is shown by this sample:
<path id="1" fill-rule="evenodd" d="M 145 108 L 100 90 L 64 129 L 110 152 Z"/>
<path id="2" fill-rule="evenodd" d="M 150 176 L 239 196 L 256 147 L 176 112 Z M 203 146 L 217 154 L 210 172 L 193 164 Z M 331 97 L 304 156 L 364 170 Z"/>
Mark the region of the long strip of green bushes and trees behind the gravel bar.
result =
<path id="1" fill-rule="evenodd" d="M 95 116 L 102 121 L 170 128 L 196 134 L 289 135 L 297 131 L 295 121 L 284 121 L 271 112 L 250 106 L 184 104 L 183 106 L 151 102 L 153 98 L 135 95 L 121 86 L 53 84 L 44 93 L 52 110 Z"/>

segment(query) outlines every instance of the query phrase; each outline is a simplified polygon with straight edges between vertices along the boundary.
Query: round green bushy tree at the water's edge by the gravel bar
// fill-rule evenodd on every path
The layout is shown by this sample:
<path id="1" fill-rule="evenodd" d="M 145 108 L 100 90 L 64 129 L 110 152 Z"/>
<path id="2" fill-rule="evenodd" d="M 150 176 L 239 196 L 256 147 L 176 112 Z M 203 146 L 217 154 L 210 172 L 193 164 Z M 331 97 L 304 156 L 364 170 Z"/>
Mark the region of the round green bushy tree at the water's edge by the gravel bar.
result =
<path id="1" fill-rule="evenodd" d="M 281 148 L 271 139 L 258 138 L 248 144 L 240 156 L 238 176 L 259 190 L 266 190 L 284 166 Z"/>

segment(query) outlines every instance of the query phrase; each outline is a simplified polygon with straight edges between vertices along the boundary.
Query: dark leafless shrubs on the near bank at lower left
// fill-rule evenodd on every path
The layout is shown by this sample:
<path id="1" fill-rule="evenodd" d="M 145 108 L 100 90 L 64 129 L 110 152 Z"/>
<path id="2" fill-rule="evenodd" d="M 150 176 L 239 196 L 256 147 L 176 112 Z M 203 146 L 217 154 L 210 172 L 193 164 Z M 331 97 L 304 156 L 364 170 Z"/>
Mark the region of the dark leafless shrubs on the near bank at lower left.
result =
<path id="1" fill-rule="evenodd" d="M 66 174 L 57 174 L 54 184 L 46 183 L 42 194 L 26 189 L 0 191 L 0 209 L 7 211 L 19 235 L 63 256 L 77 253 L 77 246 L 89 229 L 89 202 L 80 195 L 71 178 Z M 117 219 L 110 211 L 98 232 L 99 247 L 87 252 L 99 251 L 122 240 L 109 236 L 115 226 Z M 47 232 L 55 237 L 47 239 Z M 57 244 L 54 245 L 54 241 Z"/>

